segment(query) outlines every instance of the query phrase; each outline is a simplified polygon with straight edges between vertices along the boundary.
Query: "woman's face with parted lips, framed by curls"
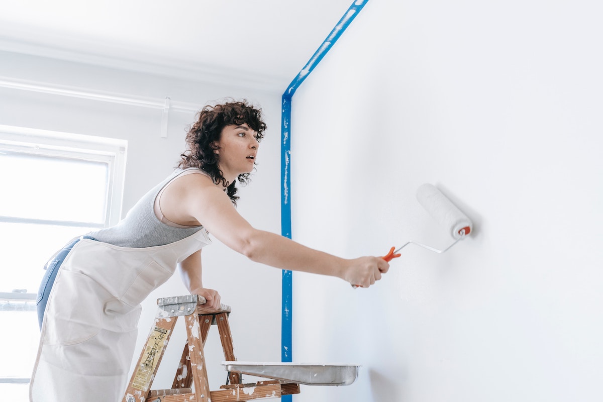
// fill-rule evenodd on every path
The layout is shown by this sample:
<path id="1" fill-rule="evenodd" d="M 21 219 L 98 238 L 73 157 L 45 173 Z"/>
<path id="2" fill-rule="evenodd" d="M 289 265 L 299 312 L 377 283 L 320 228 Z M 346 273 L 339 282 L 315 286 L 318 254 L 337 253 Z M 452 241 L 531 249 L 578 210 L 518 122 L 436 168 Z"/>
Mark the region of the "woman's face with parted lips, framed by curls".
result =
<path id="1" fill-rule="evenodd" d="M 253 171 L 259 142 L 257 133 L 247 123 L 227 125 L 222 129 L 220 139 L 214 143 L 218 154 L 218 166 L 229 183 L 242 173 Z"/>

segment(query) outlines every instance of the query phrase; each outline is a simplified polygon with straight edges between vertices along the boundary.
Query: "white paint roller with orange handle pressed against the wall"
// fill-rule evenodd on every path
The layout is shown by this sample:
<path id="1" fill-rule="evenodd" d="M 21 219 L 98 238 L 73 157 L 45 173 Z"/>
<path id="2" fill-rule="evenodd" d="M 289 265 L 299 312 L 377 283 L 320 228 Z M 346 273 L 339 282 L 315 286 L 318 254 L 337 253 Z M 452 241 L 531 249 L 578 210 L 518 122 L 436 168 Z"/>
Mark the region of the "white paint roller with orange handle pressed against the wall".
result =
<path id="1" fill-rule="evenodd" d="M 471 219 L 459 210 L 455 204 L 450 201 L 440 190 L 438 190 L 433 184 L 425 183 L 417 189 L 417 200 L 423 208 L 434 218 L 441 227 L 445 228 L 448 233 L 455 239 L 451 245 L 444 250 L 438 250 L 437 248 L 418 243 L 415 241 L 406 242 L 402 247 L 390 248 L 390 252 L 385 256 L 381 257 L 387 262 L 390 262 L 394 258 L 400 257 L 401 254 L 397 254 L 398 251 L 402 250 L 409 244 L 415 244 L 420 247 L 426 248 L 427 250 L 434 251 L 435 253 L 441 254 L 448 251 L 453 245 L 458 243 L 467 237 L 473 230 L 473 224 Z M 358 287 L 358 285 L 352 285 Z"/>

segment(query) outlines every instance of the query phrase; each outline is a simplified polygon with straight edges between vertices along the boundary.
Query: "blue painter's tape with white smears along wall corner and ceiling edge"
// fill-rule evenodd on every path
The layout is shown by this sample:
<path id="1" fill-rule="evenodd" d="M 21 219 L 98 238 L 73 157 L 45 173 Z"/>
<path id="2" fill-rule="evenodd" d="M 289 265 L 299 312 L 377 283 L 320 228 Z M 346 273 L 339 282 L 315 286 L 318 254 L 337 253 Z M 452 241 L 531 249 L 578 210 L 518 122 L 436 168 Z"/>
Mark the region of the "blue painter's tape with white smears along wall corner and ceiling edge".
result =
<path id="1" fill-rule="evenodd" d="M 280 148 L 280 180 L 282 190 L 280 196 L 280 227 L 281 234 L 291 239 L 291 99 L 297 88 L 303 83 L 314 68 L 323 60 L 323 57 L 330 48 L 337 42 L 341 34 L 358 15 L 362 7 L 368 0 L 357 0 L 348 8 L 346 14 L 339 20 L 335 28 L 331 31 L 327 39 L 320 45 L 318 50 L 312 55 L 312 58 L 306 63 L 303 69 L 297 74 L 297 77 L 291 81 L 289 87 L 285 90 L 282 97 L 282 119 L 281 135 L 282 144 Z M 283 269 L 282 280 L 282 322 L 281 322 L 281 350 L 280 357 L 282 362 L 291 362 L 291 344 L 292 344 L 292 275 L 291 271 Z M 291 401 L 291 395 L 283 395 L 283 402 Z"/>

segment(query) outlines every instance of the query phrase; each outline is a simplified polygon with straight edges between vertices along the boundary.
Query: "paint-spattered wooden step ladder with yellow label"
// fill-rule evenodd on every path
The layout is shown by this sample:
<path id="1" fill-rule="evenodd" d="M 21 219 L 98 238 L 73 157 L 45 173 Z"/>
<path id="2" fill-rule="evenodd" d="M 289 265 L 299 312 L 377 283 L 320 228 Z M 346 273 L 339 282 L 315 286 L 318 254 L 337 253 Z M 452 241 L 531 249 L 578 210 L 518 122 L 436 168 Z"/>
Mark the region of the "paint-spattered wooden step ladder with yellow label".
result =
<path id="1" fill-rule="evenodd" d="M 236 359 L 228 322 L 230 307 L 221 304 L 219 309 L 210 310 L 204 307 L 205 303 L 205 298 L 198 295 L 157 299 L 159 309 L 151 333 L 122 402 L 236 402 L 299 394 L 297 383 L 269 380 L 242 384 L 241 376 L 236 372 L 229 372 L 227 384 L 218 391 L 210 391 L 203 347 L 212 324 L 218 326 L 224 359 Z M 153 378 L 180 316 L 185 318 L 187 341 L 172 388 L 153 391 Z"/>

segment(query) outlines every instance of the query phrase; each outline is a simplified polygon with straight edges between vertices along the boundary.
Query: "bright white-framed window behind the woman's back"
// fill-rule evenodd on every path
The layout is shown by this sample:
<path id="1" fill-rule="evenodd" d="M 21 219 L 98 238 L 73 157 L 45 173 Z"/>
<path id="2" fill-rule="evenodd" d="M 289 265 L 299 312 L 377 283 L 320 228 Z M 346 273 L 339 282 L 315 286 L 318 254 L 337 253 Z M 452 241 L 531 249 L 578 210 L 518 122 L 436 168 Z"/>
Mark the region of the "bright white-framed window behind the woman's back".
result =
<path id="1" fill-rule="evenodd" d="M 121 216 L 125 140 L 0 125 L 0 394 L 27 400 L 46 261 Z"/>

